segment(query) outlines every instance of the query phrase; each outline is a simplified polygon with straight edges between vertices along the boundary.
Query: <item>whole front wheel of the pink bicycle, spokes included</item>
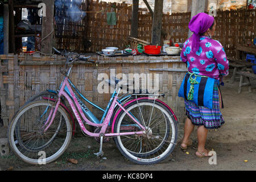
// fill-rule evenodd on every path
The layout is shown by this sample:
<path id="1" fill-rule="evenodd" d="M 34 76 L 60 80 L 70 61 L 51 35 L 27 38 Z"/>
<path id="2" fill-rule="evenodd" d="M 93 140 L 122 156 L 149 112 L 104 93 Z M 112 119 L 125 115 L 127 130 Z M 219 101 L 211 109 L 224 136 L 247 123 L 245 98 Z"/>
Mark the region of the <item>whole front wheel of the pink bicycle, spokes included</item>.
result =
<path id="1" fill-rule="evenodd" d="M 47 164 L 59 158 L 72 137 L 69 115 L 59 106 L 51 126 L 54 102 L 34 101 L 18 111 L 9 126 L 9 144 L 14 154 L 30 164 Z"/>

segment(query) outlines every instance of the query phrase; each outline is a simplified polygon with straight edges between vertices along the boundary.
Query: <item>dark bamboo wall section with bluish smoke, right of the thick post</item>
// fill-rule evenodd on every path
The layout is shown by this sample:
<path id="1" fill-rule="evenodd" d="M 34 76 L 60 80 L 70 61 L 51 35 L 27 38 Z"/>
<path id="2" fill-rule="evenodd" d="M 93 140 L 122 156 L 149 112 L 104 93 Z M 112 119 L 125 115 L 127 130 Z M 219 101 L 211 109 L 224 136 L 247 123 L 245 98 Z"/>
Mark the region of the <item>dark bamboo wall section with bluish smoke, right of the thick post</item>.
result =
<path id="1" fill-rule="evenodd" d="M 77 7 L 79 11 L 86 11 L 87 1 L 55 1 L 55 47 L 85 52 L 88 46 L 86 41 L 86 20 L 88 18 L 85 13 L 79 13 L 74 7 Z M 79 16 L 84 16 L 84 18 Z"/>

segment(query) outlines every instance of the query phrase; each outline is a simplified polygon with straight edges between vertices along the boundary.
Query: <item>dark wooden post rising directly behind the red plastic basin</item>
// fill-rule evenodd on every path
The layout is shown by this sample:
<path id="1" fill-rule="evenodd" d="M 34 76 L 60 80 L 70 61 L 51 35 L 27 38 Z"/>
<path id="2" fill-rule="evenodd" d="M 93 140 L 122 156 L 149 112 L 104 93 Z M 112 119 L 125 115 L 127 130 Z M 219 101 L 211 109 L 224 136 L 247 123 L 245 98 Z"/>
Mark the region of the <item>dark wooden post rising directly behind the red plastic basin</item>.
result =
<path id="1" fill-rule="evenodd" d="M 163 21 L 163 0 L 155 0 L 154 17 L 152 26 L 152 45 L 158 44 L 160 46 L 161 32 Z"/>

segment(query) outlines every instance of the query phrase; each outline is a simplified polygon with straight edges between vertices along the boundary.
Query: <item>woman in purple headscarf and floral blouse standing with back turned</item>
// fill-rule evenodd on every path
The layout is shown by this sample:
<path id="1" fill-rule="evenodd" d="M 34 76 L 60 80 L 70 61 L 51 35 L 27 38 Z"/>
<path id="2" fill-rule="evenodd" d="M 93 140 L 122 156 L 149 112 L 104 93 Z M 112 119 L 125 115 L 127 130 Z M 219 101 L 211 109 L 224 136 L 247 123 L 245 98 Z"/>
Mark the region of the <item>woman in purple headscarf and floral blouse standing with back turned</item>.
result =
<path id="1" fill-rule="evenodd" d="M 187 146 L 192 145 L 189 136 L 196 125 L 196 156 L 205 157 L 209 156 L 209 150 L 205 148 L 208 129 L 217 129 L 224 123 L 220 112 L 222 105 L 219 80 L 228 75 L 229 62 L 221 43 L 212 39 L 216 29 L 213 16 L 205 13 L 193 16 L 189 22 L 189 29 L 193 35 L 185 41 L 181 51 L 181 60 L 187 63 L 188 73 L 183 81 L 186 86 L 181 85 L 179 96 L 185 98 L 188 118 L 185 121 L 184 137 L 180 147 L 185 150 Z M 213 80 L 212 86 L 205 85 L 208 80 Z M 185 94 L 183 96 L 180 93 Z"/>

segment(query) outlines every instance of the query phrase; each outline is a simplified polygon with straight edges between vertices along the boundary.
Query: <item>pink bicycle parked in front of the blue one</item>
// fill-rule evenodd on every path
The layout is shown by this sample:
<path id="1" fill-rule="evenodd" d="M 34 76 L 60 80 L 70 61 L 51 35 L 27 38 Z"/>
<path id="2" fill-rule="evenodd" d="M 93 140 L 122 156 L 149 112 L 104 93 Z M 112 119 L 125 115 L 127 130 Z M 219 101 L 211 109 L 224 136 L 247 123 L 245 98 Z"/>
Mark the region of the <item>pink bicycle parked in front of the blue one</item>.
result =
<path id="1" fill-rule="evenodd" d="M 69 80 L 73 62 L 88 61 L 89 57 L 79 57 L 79 54 L 69 53 L 69 55 L 74 54 L 76 59 L 67 59 L 68 69 L 57 90 L 56 102 L 50 98 L 32 101 L 15 114 L 8 134 L 14 154 L 30 164 L 42 164 L 40 154 L 44 154 L 43 164 L 53 162 L 63 154 L 71 142 L 74 130 L 69 113 L 61 105 L 61 97 L 64 97 L 71 106 L 83 133 L 89 137 L 100 138 L 100 151 L 96 153 L 97 156 L 103 155 L 104 138 L 113 137 L 122 155 L 132 162 L 154 164 L 166 159 L 176 145 L 177 118 L 167 104 L 158 100 L 160 94 L 148 94 L 145 97 L 137 97 L 139 94 L 134 94 L 134 99 L 121 104 L 118 102 L 118 94 L 122 81 L 115 80 L 112 84 L 115 86 L 115 91 L 102 116 L 103 122 L 96 123 L 92 121 L 94 117 L 88 108 L 81 107 Z M 116 106 L 119 109 L 114 113 Z M 85 110 L 89 114 L 86 114 Z M 107 128 L 110 122 L 109 131 Z M 97 133 L 86 130 L 85 124 L 97 127 Z"/>

